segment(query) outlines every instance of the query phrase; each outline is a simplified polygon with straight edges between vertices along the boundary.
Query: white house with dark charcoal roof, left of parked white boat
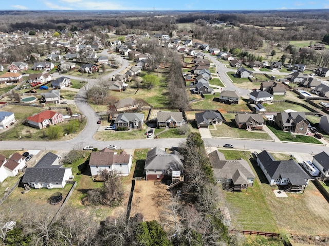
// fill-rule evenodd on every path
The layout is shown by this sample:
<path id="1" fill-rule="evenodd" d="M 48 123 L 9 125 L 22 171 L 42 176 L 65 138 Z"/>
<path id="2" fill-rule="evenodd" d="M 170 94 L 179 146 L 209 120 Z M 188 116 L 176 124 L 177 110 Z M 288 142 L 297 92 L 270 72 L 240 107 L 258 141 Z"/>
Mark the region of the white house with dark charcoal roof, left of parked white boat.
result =
<path id="1" fill-rule="evenodd" d="M 309 176 L 293 159 L 276 161 L 266 150 L 257 155 L 257 164 L 270 185 L 278 185 L 285 192 L 303 192 Z"/>

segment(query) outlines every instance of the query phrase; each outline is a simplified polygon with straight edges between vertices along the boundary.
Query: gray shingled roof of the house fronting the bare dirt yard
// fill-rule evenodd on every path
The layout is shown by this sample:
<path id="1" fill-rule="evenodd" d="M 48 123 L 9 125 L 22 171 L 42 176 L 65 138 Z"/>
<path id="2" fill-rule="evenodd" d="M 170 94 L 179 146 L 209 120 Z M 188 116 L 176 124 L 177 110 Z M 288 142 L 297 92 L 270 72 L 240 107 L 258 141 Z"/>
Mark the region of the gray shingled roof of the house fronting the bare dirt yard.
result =
<path id="1" fill-rule="evenodd" d="M 173 170 L 179 171 L 184 169 L 179 155 L 167 154 L 165 150 L 155 147 L 148 152 L 145 160 L 145 170 Z"/>

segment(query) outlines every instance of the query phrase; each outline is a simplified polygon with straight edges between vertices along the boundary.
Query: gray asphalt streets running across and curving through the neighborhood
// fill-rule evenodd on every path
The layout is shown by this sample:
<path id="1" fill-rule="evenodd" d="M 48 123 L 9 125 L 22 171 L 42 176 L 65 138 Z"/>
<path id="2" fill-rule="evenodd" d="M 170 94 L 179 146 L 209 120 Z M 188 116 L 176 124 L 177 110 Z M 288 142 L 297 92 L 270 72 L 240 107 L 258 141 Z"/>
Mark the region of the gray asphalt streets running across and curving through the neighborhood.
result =
<path id="1" fill-rule="evenodd" d="M 105 52 L 105 51 L 103 51 Z M 107 53 L 107 51 L 106 51 Z M 105 54 L 105 53 L 104 53 Z M 103 54 L 103 55 L 104 55 Z M 208 56 L 208 55 L 207 55 Z M 241 94 L 248 93 L 245 89 L 235 87 L 232 82 L 227 78 L 226 71 L 230 69 L 218 62 L 215 58 L 209 55 L 209 59 L 212 60 L 221 71 L 221 79 L 226 85 L 227 89 L 237 90 Z M 105 79 L 111 78 L 113 75 L 124 70 L 129 66 L 129 62 L 125 59 L 122 60 L 122 66 L 115 71 L 105 75 Z M 83 80 L 82 78 L 75 78 L 67 76 L 72 79 Z M 74 139 L 67 141 L 0 141 L 1 149 L 45 149 L 45 150 L 70 150 L 70 149 L 82 149 L 85 145 L 93 145 L 99 149 L 106 147 L 108 144 L 117 145 L 118 148 L 153 148 L 153 147 L 174 147 L 179 146 L 185 142 L 185 138 L 173 138 L 173 139 L 140 139 L 140 140 L 116 140 L 116 141 L 97 141 L 93 138 L 96 131 L 99 128 L 97 120 L 99 116 L 87 103 L 85 97 L 85 91 L 88 86 L 92 86 L 97 83 L 97 80 L 85 79 L 88 83 L 83 87 L 75 97 L 75 103 L 78 106 L 81 114 L 86 117 L 87 125 L 83 131 Z M 240 150 L 262 150 L 266 149 L 271 152 L 287 152 L 287 153 L 319 153 L 327 149 L 326 146 L 319 144 L 303 144 L 303 143 L 279 143 L 262 140 L 245 140 L 245 139 L 227 139 L 227 138 L 205 138 L 206 147 L 222 147 L 226 143 L 234 145 L 234 149 Z M 192 154 L 192 153 L 191 153 Z"/>

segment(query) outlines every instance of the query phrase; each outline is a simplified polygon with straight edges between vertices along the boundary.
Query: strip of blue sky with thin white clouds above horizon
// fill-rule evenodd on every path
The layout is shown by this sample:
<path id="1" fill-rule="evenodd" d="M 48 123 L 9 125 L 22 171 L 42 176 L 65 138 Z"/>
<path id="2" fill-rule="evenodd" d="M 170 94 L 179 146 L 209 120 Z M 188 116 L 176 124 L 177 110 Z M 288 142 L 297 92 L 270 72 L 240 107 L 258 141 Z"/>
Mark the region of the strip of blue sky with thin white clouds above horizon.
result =
<path id="1" fill-rule="evenodd" d="M 2 0 L 1 10 L 269 10 L 326 9 L 329 0 Z"/>

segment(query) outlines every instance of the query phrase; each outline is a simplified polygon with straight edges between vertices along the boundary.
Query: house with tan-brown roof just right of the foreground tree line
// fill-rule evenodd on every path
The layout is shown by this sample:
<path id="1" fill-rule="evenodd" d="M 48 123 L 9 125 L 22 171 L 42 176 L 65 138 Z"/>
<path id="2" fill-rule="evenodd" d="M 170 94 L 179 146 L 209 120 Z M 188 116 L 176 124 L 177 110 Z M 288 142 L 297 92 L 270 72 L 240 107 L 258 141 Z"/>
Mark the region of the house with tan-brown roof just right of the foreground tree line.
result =
<path id="1" fill-rule="evenodd" d="M 215 180 L 227 191 L 247 190 L 253 185 L 255 175 L 246 160 L 226 160 L 223 153 L 215 150 L 209 154 L 209 161 Z"/>

